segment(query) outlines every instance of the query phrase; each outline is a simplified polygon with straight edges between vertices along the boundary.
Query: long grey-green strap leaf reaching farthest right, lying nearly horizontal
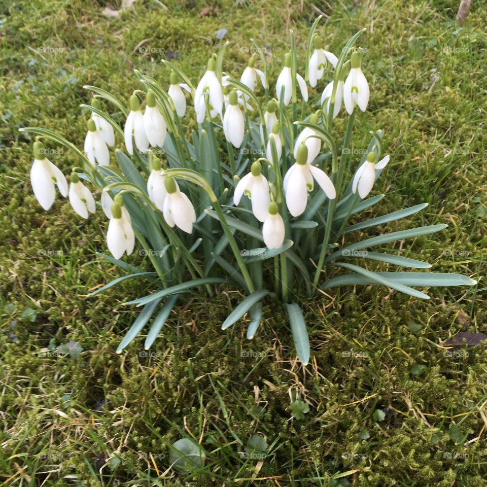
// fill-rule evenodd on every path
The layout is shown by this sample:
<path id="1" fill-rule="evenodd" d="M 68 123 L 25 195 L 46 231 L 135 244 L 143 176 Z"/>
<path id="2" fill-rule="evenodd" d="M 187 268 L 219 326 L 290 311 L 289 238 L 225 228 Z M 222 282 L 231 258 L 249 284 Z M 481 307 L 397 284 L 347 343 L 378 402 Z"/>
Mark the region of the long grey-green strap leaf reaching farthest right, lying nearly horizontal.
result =
<path id="1" fill-rule="evenodd" d="M 422 287 L 450 287 L 450 286 L 474 286 L 477 281 L 463 274 L 449 274 L 447 272 L 375 272 L 381 277 L 406 286 Z M 370 285 L 379 284 L 362 274 L 344 274 L 332 277 L 321 289 L 336 286 Z"/>

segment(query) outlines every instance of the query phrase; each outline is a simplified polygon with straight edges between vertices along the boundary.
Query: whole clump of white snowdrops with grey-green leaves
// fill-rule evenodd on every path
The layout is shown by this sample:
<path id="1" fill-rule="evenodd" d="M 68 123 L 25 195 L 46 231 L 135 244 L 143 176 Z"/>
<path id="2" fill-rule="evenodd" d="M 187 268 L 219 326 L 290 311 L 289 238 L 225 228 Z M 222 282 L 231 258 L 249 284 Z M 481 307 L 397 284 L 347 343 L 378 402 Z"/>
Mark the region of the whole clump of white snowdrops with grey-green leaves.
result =
<path id="1" fill-rule="evenodd" d="M 414 287 L 475 283 L 460 274 L 367 269 L 369 260 L 408 269 L 430 267 L 368 249 L 446 225 L 377 232 L 341 243 L 354 231 L 407 217 L 427 204 L 348 224 L 351 215 L 384 197 L 370 193 L 389 155 L 382 153 L 381 130 L 372 127 L 370 144 L 360 151 L 363 157 L 353 157 L 355 118 L 367 110 L 370 94 L 363 51 L 354 47 L 363 30 L 336 57 L 323 48 L 319 20 L 309 32 L 304 67 L 297 62 L 291 32 L 291 48 L 275 89 L 269 88 L 267 58 L 255 41 L 255 54 L 239 80 L 223 71 L 225 45 L 208 60 L 196 88 L 169 61 L 162 61 L 168 68 L 168 87 L 135 71 L 143 89 L 130 96 L 128 110 L 115 95 L 85 86 L 93 98 L 90 105 L 82 105 L 91 113 L 83 151 L 53 131 L 21 129 L 37 134 L 30 176 L 45 210 L 55 200 L 56 185 L 81 218 L 97 211 L 93 190 L 100 195 L 111 255 L 99 255 L 125 275 L 91 296 L 125 279 L 151 284 L 152 292 L 126 303 L 143 309 L 118 352 L 151 322 L 145 341 L 149 349 L 179 296 L 211 296 L 215 286 L 225 285 L 245 297 L 231 310 L 223 329 L 248 313 L 247 337 L 252 338 L 263 319 L 262 301 L 277 300 L 289 315 L 297 354 L 307 364 L 302 296 L 327 299 L 324 291 L 335 286 L 375 284 L 427 299 Z M 326 78 L 331 78 L 327 84 Z M 321 96 L 308 99 L 308 84 Z M 125 119 L 123 129 L 100 100 Z M 187 115 L 188 105 L 194 107 L 198 123 L 189 136 L 184 128 L 185 118 L 193 116 Z M 345 116 L 346 124 L 337 140 L 332 127 L 338 116 Z M 80 166 L 72 168 L 69 184 L 46 158 L 43 137 L 79 154 Z M 114 157 L 110 148 L 121 141 L 124 150 L 116 149 Z M 121 260 L 134 252 L 136 241 L 151 263 L 149 271 Z M 340 274 L 340 269 L 349 272 Z"/>

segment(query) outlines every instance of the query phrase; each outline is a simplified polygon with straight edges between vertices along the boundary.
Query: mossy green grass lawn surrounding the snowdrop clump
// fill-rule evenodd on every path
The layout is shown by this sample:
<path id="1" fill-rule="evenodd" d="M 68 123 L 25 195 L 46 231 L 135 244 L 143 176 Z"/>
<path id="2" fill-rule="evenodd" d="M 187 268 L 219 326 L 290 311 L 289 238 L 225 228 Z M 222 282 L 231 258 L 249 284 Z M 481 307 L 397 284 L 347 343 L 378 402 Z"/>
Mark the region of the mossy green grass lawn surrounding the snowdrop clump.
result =
<path id="1" fill-rule="evenodd" d="M 136 316 L 120 303 L 140 290 L 124 282 L 86 298 L 119 275 L 94 256 L 105 250 L 106 223 L 101 212 L 80 221 L 66 200 L 41 210 L 28 179 L 31 141 L 18 128 L 53 128 L 82 147 L 83 85 L 127 102 L 138 87 L 132 68 L 167 81 L 159 53 L 179 56 L 196 79 L 221 28 L 228 71 L 243 69 L 255 37 L 275 80 L 288 29 L 303 53 L 317 15 L 308 3 L 270 0 L 215 2 L 217 13 L 202 18 L 204 2 L 166 5 L 137 2 L 113 19 L 87 0 L 0 7 L 0 485 L 483 485 L 487 352 L 440 346 L 460 331 L 485 333 L 482 279 L 474 289 L 430 289 L 427 303 L 381 287 L 308 300 L 306 368 L 280 309 L 265 309 L 272 318 L 252 342 L 242 324 L 220 330 L 239 299 L 226 289 L 178 307 L 149 354 L 143 336 L 115 353 Z M 354 147 L 370 128 L 384 129 L 391 163 L 374 188 L 387 193 L 379 213 L 429 203 L 385 230 L 448 223 L 412 242 L 408 256 L 483 277 L 485 5 L 473 3 L 463 27 L 441 0 L 320 5 L 334 52 L 368 28 L 372 95 Z M 64 172 L 77 163 L 68 152 L 51 159 Z M 73 341 L 82 350 L 57 349 Z M 256 450 L 254 435 L 265 439 Z M 169 445 L 180 438 L 201 444 L 203 467 L 169 469 Z"/>

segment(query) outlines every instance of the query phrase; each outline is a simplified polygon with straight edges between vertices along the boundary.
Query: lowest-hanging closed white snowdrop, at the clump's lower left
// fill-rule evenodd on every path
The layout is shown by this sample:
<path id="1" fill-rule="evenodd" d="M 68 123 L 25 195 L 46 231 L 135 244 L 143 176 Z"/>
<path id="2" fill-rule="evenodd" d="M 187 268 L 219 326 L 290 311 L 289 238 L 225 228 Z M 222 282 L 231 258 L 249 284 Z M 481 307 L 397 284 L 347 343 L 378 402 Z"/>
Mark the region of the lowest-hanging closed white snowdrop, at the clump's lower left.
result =
<path id="1" fill-rule="evenodd" d="M 108 224 L 107 246 L 111 254 L 120 259 L 124 253 L 130 255 L 135 246 L 135 235 L 132 229 L 130 217 L 127 218 L 128 212 L 122 211 L 122 197 L 116 196 L 112 204 L 112 218 Z"/>

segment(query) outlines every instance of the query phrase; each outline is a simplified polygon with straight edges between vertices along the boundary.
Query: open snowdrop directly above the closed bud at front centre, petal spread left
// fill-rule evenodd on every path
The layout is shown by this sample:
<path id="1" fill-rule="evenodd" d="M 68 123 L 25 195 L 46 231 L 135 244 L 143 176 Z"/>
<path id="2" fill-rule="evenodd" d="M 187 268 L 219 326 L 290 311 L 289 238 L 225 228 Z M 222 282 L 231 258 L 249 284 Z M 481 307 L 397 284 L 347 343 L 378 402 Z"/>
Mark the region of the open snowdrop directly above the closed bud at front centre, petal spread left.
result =
<path id="1" fill-rule="evenodd" d="M 238 206 L 243 194 L 246 194 L 252 201 L 252 213 L 259 222 L 267 218 L 267 210 L 270 204 L 269 183 L 262 172 L 259 161 L 252 163 L 251 171 L 244 176 L 236 185 L 233 193 L 233 203 Z"/>

